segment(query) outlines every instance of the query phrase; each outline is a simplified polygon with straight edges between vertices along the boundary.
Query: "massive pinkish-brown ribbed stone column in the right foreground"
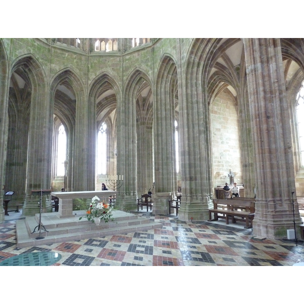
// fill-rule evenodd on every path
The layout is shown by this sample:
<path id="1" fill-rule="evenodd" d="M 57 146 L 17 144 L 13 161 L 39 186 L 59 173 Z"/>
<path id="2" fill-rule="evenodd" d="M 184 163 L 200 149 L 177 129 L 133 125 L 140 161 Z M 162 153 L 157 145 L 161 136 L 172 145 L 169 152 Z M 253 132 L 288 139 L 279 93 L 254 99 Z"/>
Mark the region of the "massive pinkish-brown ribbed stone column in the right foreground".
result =
<path id="1" fill-rule="evenodd" d="M 280 40 L 244 39 L 244 48 L 257 197 L 253 233 L 283 238 L 293 229 L 295 181 Z"/>

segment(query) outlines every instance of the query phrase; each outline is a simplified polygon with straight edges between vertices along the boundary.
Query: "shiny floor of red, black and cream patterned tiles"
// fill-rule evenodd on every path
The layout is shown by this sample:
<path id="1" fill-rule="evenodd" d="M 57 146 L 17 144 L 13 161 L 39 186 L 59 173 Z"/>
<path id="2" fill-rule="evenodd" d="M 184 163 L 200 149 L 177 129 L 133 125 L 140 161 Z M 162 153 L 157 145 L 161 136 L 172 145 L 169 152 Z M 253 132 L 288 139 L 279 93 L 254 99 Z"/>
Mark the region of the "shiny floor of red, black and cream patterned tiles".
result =
<path id="1" fill-rule="evenodd" d="M 303 242 L 257 240 L 251 229 L 177 217 L 143 217 L 162 229 L 16 248 L 15 218 L 0 223 L 0 262 L 32 252 L 57 252 L 54 266 L 291 266 L 304 262 Z M 20 259 L 21 260 L 21 259 Z"/>

